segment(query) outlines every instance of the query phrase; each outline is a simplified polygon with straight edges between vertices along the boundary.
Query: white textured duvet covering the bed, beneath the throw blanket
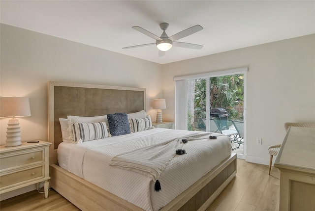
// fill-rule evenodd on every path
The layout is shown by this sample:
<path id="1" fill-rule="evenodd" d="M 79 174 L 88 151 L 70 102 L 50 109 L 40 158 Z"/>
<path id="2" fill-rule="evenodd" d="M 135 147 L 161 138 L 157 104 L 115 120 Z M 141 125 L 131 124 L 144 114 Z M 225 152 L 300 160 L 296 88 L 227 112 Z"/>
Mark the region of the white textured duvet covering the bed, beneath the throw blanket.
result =
<path id="1" fill-rule="evenodd" d="M 122 153 L 190 133 L 192 131 L 157 128 L 81 144 L 63 142 L 58 147 L 58 161 L 69 172 L 130 203 L 147 211 L 158 211 L 231 155 L 229 137 L 217 133 L 217 139 L 206 138 L 183 144 L 186 154 L 176 155 L 160 174 L 159 192 L 154 191 L 155 183 L 151 177 L 109 163 Z"/>

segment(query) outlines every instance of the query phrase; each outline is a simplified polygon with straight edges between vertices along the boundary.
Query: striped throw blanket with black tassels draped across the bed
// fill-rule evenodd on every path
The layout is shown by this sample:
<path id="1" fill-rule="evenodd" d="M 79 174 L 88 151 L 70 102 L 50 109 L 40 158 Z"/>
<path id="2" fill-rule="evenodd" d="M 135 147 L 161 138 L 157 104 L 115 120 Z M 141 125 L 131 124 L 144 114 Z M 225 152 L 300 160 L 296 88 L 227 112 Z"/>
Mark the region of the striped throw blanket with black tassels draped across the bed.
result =
<path id="1" fill-rule="evenodd" d="M 192 140 L 209 139 L 210 134 L 212 133 L 195 132 L 180 138 L 123 153 L 112 158 L 110 165 L 138 172 L 151 177 L 156 182 L 167 164 L 176 156 L 176 150 L 182 148 L 184 144 L 183 139 L 187 139 L 189 143 Z"/>

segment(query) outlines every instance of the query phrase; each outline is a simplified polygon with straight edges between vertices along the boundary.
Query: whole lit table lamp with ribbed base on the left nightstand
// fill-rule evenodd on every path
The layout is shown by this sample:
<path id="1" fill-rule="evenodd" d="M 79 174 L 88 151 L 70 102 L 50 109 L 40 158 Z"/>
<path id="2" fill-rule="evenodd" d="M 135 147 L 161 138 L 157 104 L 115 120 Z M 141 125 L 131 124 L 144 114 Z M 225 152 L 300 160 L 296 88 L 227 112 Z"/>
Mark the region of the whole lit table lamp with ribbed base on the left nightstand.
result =
<path id="1" fill-rule="evenodd" d="M 21 145 L 20 123 L 15 117 L 31 116 L 30 101 L 28 98 L 8 97 L 0 98 L 0 117 L 12 117 L 6 131 L 6 147 Z"/>

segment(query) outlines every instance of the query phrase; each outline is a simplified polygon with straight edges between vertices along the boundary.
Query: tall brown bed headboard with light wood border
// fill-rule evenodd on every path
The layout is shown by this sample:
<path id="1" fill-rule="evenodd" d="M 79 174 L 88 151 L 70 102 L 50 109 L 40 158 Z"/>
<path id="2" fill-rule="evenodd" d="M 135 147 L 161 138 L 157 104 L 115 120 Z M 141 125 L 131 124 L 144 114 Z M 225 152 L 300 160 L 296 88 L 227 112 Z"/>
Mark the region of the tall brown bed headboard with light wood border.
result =
<path id="1" fill-rule="evenodd" d="M 145 110 L 146 89 L 83 83 L 49 81 L 48 141 L 50 163 L 57 163 L 57 148 L 62 142 L 59 118 L 100 116 L 115 112 Z"/>

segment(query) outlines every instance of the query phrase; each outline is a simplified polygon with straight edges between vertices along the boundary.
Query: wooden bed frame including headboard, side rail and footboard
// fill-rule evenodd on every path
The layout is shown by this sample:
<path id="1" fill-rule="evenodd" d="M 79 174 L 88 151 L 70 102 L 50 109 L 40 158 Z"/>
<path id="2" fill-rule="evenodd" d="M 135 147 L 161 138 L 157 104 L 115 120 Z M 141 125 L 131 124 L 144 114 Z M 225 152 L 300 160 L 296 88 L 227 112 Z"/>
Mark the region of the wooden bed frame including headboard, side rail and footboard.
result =
<path id="1" fill-rule="evenodd" d="M 58 166 L 57 148 L 62 142 L 59 118 L 132 113 L 145 108 L 146 90 L 142 88 L 49 81 L 48 140 L 52 143 L 49 185 L 82 211 L 143 211 Z M 236 154 L 232 153 L 161 211 L 204 211 L 235 175 Z"/>

